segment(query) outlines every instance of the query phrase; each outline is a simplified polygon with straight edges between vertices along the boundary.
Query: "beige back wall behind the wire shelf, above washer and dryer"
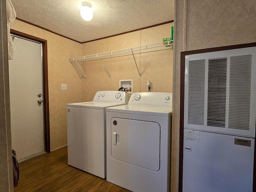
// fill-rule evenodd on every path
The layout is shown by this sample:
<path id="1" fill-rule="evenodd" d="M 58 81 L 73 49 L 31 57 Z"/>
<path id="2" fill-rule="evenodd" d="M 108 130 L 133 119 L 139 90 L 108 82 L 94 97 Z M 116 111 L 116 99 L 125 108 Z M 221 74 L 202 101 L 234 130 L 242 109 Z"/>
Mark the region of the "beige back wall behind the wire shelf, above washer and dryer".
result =
<path id="1" fill-rule="evenodd" d="M 90 55 L 162 42 L 171 36 L 173 23 L 130 32 L 82 44 L 82 54 Z M 100 90 L 118 90 L 119 80 L 132 79 L 133 92 L 146 92 L 147 81 L 152 82 L 152 92 L 172 92 L 173 50 L 164 50 L 133 56 L 105 59 L 110 77 L 102 60 L 83 62 L 88 81 L 83 81 L 83 101 L 90 101 Z"/>

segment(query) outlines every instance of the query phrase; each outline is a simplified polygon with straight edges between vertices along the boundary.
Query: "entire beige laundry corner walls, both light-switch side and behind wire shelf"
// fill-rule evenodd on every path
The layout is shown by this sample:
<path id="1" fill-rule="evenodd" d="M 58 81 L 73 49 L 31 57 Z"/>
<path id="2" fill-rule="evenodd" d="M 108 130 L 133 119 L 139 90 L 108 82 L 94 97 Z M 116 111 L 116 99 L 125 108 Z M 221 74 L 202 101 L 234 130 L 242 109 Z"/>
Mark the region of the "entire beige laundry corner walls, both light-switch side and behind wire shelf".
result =
<path id="1" fill-rule="evenodd" d="M 120 79 L 132 79 L 134 92 L 146 91 L 147 80 L 152 82 L 153 92 L 172 92 L 172 50 L 136 55 L 141 78 L 132 56 L 104 60 L 112 80 L 101 60 L 86 62 L 83 70 L 88 81 L 80 80 L 68 58 L 162 42 L 162 38 L 170 37 L 172 25 L 80 44 L 15 20 L 12 29 L 47 40 L 51 150 L 67 144 L 67 103 L 90 101 L 99 90 L 118 90 Z M 67 91 L 61 90 L 61 83 L 68 84 Z"/>

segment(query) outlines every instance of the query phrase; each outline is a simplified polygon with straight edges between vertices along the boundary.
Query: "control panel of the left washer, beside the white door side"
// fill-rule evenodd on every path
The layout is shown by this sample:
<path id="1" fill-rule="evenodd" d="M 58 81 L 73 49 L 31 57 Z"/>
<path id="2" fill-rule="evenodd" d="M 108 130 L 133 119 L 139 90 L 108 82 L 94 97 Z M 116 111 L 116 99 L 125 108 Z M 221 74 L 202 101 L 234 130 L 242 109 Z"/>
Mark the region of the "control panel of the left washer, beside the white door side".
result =
<path id="1" fill-rule="evenodd" d="M 93 102 L 128 103 L 128 94 L 124 91 L 98 91 Z"/>

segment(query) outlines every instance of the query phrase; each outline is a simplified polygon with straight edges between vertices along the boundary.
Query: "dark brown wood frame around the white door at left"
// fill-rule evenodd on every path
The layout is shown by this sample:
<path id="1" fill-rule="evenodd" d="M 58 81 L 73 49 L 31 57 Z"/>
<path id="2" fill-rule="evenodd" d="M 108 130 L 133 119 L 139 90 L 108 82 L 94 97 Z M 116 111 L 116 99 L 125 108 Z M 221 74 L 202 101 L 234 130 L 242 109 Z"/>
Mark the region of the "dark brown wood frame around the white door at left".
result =
<path id="1" fill-rule="evenodd" d="M 44 150 L 50 153 L 50 116 L 49 116 L 49 95 L 48 95 L 48 59 L 47 59 L 47 40 L 25 34 L 16 30 L 10 30 L 11 34 L 31 39 L 42 43 L 42 71 L 43 71 L 43 90 L 44 90 Z"/>

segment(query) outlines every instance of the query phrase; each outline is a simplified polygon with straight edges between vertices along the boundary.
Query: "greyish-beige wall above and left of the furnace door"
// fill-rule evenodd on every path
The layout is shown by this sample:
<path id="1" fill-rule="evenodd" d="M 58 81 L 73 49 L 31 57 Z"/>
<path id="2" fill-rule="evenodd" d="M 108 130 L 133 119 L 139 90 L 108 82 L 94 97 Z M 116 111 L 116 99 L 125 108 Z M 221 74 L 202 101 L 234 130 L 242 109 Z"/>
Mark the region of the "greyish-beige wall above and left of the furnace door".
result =
<path id="1" fill-rule="evenodd" d="M 256 42 L 256 4 L 251 0 L 175 0 L 174 6 L 171 191 L 178 192 L 180 52 Z"/>

